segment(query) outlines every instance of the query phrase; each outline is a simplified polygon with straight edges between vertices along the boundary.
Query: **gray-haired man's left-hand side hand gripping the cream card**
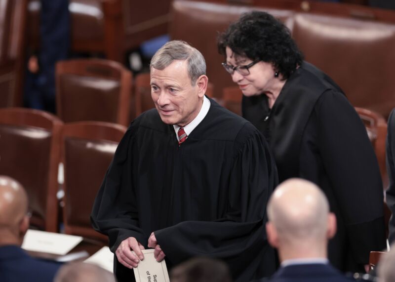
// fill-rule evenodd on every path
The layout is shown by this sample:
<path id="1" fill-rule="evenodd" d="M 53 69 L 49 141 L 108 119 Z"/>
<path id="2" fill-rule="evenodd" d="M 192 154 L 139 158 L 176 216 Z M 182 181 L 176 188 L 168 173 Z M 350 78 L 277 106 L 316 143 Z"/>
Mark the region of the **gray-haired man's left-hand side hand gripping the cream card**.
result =
<path id="1" fill-rule="evenodd" d="M 131 249 L 137 256 L 132 253 Z M 137 242 L 136 238 L 129 237 L 119 244 L 115 254 L 122 265 L 127 268 L 133 268 L 137 267 L 139 261 L 144 259 L 143 252 L 141 251 L 143 249 L 144 246 Z"/>

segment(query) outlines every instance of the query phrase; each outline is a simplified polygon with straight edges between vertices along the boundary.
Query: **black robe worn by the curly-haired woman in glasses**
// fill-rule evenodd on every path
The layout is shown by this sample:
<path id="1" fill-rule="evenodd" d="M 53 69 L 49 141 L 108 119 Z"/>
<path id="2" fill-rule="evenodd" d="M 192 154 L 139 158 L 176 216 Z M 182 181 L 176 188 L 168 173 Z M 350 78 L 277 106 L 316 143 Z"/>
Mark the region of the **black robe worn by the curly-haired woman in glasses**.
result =
<path id="1" fill-rule="evenodd" d="M 301 177 L 326 194 L 338 223 L 331 263 L 362 272 L 369 252 L 385 247 L 383 186 L 366 129 L 340 87 L 304 62 L 272 110 L 262 94 L 243 97 L 242 113 L 268 140 L 280 182 Z"/>

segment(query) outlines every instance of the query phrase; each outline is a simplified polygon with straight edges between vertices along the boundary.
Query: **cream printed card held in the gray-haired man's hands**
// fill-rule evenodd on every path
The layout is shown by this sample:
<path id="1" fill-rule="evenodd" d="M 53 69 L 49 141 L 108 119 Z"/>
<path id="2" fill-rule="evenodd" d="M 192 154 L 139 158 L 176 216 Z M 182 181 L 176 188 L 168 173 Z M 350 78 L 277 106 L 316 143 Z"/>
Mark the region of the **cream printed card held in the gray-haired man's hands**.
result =
<path id="1" fill-rule="evenodd" d="M 154 249 L 142 250 L 144 260 L 133 268 L 136 282 L 170 282 L 164 260 L 157 262 Z"/>

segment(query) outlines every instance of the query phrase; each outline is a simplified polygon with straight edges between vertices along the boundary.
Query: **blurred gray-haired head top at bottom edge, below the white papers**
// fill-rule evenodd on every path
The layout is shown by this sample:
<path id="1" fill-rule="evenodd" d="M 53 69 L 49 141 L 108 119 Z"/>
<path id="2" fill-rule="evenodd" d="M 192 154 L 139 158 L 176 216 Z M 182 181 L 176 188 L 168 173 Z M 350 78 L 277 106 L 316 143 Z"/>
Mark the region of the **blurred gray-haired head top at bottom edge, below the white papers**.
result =
<path id="1" fill-rule="evenodd" d="M 74 262 L 63 265 L 54 282 L 116 282 L 114 275 L 93 264 Z"/>

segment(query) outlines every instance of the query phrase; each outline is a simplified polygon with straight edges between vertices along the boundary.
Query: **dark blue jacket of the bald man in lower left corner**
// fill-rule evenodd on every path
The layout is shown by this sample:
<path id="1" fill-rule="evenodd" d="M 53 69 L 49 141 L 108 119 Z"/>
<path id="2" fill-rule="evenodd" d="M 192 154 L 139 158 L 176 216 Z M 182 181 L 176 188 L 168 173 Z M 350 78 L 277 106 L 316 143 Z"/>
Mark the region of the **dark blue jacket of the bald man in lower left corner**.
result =
<path id="1" fill-rule="evenodd" d="M 16 245 L 0 247 L 1 282 L 52 282 L 60 266 L 32 258 Z"/>

